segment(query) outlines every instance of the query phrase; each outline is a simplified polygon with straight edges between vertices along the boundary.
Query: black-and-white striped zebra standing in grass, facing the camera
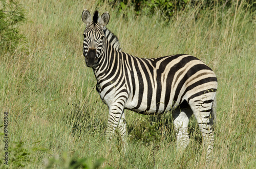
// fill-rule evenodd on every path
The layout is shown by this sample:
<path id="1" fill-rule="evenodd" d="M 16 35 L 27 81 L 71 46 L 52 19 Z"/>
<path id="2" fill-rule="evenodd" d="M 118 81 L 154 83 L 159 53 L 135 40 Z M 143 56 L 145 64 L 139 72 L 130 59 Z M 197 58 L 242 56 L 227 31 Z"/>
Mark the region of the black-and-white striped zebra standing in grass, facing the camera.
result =
<path id="1" fill-rule="evenodd" d="M 188 123 L 195 115 L 207 147 L 206 158 L 214 147 L 217 77 L 210 67 L 194 56 L 171 55 L 138 58 L 119 50 L 119 41 L 110 41 L 104 30 L 110 15 L 98 11 L 93 18 L 82 12 L 83 56 L 93 69 L 96 90 L 108 105 L 106 138 L 111 141 L 116 129 L 126 142 L 124 109 L 140 114 L 160 115 L 171 111 L 177 136 L 177 150 L 189 143 Z M 112 35 L 112 33 L 110 33 Z"/>

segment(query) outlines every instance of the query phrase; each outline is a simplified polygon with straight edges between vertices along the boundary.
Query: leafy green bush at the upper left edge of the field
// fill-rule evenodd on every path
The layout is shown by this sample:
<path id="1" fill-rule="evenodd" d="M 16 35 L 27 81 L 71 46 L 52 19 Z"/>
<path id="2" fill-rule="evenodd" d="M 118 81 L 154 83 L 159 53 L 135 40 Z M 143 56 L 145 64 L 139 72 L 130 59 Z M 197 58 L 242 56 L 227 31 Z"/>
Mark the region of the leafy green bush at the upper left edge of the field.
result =
<path id="1" fill-rule="evenodd" d="M 19 33 L 18 26 L 26 21 L 24 10 L 15 1 L 0 0 L 0 53 L 14 51 L 25 36 Z"/>

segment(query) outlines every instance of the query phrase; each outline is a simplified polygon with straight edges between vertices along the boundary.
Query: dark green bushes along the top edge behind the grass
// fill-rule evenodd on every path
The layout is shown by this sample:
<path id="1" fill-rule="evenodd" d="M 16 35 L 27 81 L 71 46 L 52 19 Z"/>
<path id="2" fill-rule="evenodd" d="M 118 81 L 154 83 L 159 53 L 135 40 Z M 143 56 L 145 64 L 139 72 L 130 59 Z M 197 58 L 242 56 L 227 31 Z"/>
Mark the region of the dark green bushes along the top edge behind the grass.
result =
<path id="1" fill-rule="evenodd" d="M 104 0 L 106 1 L 106 0 Z M 156 11 L 160 12 L 164 19 L 169 20 L 178 11 L 188 8 L 200 9 L 210 8 L 218 6 L 222 9 L 240 5 L 243 1 L 228 1 L 228 0 L 215 0 L 215 1 L 191 1 L 191 0 L 107 0 L 114 8 L 118 8 L 119 12 L 133 8 L 137 15 L 145 14 L 147 16 L 153 16 Z M 243 2 L 244 3 L 244 2 Z M 256 10 L 256 2 L 253 0 L 245 1 L 247 7 L 251 8 L 251 11 Z M 247 8 L 245 7 L 245 8 Z"/>

